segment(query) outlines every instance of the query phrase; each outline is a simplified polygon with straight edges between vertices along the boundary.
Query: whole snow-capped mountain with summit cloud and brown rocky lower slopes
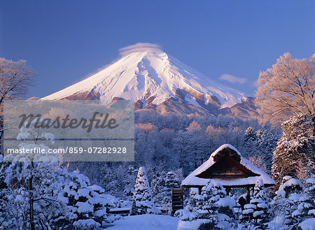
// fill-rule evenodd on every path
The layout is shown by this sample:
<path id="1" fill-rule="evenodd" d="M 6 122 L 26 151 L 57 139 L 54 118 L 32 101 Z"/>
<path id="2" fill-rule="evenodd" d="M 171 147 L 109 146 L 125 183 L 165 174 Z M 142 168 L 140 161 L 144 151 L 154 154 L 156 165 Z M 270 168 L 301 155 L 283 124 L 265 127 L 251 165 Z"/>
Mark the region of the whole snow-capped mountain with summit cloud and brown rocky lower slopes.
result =
<path id="1" fill-rule="evenodd" d="M 120 52 L 123 57 L 102 71 L 43 99 L 127 99 L 136 108 L 214 115 L 248 101 L 243 92 L 211 80 L 158 45 L 137 43 Z"/>

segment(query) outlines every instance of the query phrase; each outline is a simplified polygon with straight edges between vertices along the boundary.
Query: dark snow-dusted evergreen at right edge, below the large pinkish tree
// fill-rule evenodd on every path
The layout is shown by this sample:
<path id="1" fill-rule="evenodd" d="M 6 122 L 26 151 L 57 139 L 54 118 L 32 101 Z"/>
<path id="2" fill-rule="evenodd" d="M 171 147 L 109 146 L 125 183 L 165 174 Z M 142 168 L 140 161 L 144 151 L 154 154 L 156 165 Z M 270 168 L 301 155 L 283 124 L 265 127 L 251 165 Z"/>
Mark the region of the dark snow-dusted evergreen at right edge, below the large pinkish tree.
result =
<path id="1" fill-rule="evenodd" d="M 315 139 L 309 136 L 311 122 L 304 115 L 290 117 L 281 125 L 283 134 L 274 150 L 272 174 L 277 189 L 283 176 L 306 180 L 315 175 Z"/>

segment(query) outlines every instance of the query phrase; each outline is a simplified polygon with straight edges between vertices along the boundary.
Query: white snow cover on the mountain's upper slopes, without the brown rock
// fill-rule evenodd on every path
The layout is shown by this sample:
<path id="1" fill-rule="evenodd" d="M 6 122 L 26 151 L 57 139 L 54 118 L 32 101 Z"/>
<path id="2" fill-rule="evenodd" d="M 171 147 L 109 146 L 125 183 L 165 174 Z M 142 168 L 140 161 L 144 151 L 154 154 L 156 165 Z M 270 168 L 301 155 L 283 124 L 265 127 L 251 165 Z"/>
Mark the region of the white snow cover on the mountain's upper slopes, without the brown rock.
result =
<path id="1" fill-rule="evenodd" d="M 169 97 L 177 97 L 174 89 L 203 94 L 205 104 L 211 96 L 216 96 L 222 108 L 247 99 L 243 92 L 211 80 L 156 48 L 134 50 L 102 71 L 43 99 L 58 100 L 73 94 L 93 92 L 104 101 L 120 97 L 145 102 L 149 96 L 155 96 L 152 103 L 158 105 Z M 200 106 L 193 96 L 186 94 L 185 98 L 188 103 Z"/>

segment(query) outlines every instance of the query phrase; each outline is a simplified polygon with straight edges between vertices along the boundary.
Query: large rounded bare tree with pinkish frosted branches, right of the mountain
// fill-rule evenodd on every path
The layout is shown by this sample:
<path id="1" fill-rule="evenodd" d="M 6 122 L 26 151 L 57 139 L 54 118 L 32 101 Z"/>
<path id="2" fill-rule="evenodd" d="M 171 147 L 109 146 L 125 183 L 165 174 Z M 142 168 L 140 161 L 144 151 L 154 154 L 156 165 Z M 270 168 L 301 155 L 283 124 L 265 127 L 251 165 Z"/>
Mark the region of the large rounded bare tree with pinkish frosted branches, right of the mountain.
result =
<path id="1" fill-rule="evenodd" d="M 260 73 L 256 104 L 263 122 L 279 123 L 290 115 L 308 115 L 315 136 L 315 55 L 293 59 L 286 53 Z"/>

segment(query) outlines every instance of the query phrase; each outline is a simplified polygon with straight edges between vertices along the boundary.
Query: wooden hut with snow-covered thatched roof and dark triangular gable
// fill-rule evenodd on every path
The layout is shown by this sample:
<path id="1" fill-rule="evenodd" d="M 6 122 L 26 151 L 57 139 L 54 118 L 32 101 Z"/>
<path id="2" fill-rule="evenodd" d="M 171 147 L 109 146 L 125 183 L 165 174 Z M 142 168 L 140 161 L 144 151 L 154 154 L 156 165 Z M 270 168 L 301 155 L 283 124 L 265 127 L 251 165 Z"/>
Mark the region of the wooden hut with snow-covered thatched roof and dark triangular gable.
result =
<path id="1" fill-rule="evenodd" d="M 262 179 L 265 187 L 273 186 L 274 180 L 250 161 L 241 156 L 232 145 L 222 145 L 211 154 L 209 159 L 185 178 L 183 187 L 195 187 L 201 194 L 202 187 L 209 180 L 216 180 L 225 187 L 227 194 L 232 187 L 246 187 L 247 199 L 255 182 Z"/>

